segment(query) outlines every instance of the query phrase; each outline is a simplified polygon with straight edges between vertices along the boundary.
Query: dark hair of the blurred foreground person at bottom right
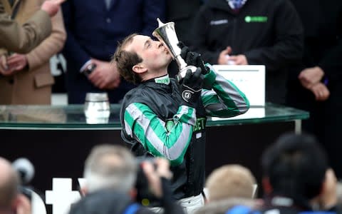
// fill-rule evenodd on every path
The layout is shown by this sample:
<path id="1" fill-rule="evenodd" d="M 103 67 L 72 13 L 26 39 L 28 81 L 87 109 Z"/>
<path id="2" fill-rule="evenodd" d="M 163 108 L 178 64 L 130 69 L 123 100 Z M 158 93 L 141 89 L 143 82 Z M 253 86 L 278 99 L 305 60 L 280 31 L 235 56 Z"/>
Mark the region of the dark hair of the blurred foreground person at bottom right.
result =
<path id="1" fill-rule="evenodd" d="M 286 133 L 263 154 L 264 175 L 274 194 L 286 195 L 302 202 L 321 193 L 328 161 L 314 136 Z"/>

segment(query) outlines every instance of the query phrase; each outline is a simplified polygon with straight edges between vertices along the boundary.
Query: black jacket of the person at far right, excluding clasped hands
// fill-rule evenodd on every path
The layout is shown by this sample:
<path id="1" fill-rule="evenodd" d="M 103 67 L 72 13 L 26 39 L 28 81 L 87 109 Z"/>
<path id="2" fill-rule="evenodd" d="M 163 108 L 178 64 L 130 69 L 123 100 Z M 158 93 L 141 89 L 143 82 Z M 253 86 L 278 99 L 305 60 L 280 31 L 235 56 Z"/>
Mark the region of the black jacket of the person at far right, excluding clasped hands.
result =
<path id="1" fill-rule="evenodd" d="M 295 95 L 299 92 L 314 101 L 313 93 L 301 86 L 298 75 L 304 68 L 320 66 L 328 78 L 329 90 L 341 84 L 342 1 L 292 1 L 303 21 L 305 36 L 304 57 L 299 68 L 291 72 L 289 87 Z M 306 10 L 307 5 L 310 5 L 310 12 Z"/>

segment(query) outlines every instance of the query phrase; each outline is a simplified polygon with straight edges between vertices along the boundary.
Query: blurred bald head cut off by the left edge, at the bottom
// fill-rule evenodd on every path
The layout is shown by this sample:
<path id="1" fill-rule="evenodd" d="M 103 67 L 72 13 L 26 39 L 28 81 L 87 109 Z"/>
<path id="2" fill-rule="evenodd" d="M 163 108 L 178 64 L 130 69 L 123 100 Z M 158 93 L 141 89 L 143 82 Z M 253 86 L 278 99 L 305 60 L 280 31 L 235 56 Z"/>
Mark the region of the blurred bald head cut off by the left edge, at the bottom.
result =
<path id="1" fill-rule="evenodd" d="M 14 209 L 19 194 L 19 177 L 11 163 L 0 158 L 0 210 Z"/>

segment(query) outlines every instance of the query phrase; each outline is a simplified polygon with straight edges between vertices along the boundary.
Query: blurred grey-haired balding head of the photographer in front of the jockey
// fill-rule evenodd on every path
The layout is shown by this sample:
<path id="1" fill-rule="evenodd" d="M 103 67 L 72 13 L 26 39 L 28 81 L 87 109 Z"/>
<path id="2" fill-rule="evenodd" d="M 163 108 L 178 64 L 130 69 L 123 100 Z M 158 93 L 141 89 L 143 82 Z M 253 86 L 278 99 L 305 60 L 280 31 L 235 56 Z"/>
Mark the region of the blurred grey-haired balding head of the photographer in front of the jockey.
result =
<path id="1" fill-rule="evenodd" d="M 86 191 L 113 189 L 129 193 L 135 185 L 137 164 L 127 148 L 115 145 L 95 146 L 86 159 Z"/>

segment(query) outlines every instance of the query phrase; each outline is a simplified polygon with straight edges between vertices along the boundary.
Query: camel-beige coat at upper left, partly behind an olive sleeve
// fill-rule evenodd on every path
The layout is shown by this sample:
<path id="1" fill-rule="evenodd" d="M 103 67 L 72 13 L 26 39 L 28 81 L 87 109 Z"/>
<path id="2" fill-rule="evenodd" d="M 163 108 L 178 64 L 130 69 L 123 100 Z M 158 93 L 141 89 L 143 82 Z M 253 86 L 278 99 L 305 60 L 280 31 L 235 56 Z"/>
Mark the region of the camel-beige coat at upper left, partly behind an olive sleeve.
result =
<path id="1" fill-rule="evenodd" d="M 5 11 L 12 13 L 8 0 L 0 0 Z M 19 4 L 16 21 L 26 22 L 40 9 L 43 0 L 16 0 Z M 0 104 L 50 104 L 51 86 L 54 83 L 49 60 L 63 48 L 66 31 L 61 10 L 52 19 L 52 32 L 36 49 L 26 54 L 28 68 L 14 76 L 0 77 Z"/>

